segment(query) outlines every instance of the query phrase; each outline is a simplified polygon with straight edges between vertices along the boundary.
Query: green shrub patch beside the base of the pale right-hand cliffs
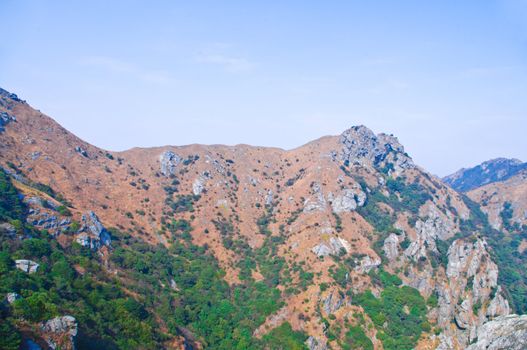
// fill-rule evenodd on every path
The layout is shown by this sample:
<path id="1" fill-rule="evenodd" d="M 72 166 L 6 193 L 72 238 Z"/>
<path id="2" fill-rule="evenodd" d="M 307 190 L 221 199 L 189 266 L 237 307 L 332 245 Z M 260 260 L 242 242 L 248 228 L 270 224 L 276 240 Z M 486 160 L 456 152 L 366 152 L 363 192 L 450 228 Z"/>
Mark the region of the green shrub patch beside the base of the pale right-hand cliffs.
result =
<path id="1" fill-rule="evenodd" d="M 408 286 L 388 286 L 379 298 L 366 291 L 355 296 L 353 303 L 364 308 L 386 350 L 414 348 L 421 332 L 429 327 L 423 297 Z"/>

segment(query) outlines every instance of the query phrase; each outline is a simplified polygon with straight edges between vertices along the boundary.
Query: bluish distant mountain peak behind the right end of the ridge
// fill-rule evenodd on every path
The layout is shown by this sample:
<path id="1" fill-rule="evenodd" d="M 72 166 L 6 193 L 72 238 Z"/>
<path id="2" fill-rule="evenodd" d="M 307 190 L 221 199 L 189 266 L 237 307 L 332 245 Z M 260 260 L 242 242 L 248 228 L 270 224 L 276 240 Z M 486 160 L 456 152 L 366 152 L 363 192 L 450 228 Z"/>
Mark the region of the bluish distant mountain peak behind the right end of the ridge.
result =
<path id="1" fill-rule="evenodd" d="M 461 169 L 443 178 L 453 189 L 467 192 L 489 183 L 505 181 L 527 169 L 518 159 L 496 158 L 469 169 Z"/>

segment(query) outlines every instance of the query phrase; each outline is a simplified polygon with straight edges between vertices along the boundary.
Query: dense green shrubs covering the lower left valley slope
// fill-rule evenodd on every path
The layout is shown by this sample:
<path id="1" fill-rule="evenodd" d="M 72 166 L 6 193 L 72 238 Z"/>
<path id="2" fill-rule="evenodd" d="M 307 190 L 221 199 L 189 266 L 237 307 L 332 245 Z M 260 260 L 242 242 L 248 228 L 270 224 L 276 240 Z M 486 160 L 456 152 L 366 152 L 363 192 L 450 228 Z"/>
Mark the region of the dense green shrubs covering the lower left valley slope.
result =
<path id="1" fill-rule="evenodd" d="M 194 199 L 182 196 L 178 201 L 188 203 L 189 198 Z M 7 349 L 20 344 L 16 330 L 20 318 L 40 322 L 65 314 L 78 321 L 79 349 L 157 349 L 168 334 L 190 335 L 190 342 L 195 338 L 212 349 L 305 348 L 305 335 L 288 324 L 261 340 L 252 337 L 266 317 L 283 306 L 275 288 L 283 278 L 285 261 L 276 254 L 283 237 L 267 237 L 254 252 L 248 248 L 248 265 L 257 264 L 264 281 L 256 282 L 247 273 L 241 284 L 229 286 L 207 247 L 192 244 L 192 227 L 183 218 L 165 220 L 174 240 L 168 248 L 112 228 L 109 263 L 119 271 L 117 280 L 92 251 L 76 243 L 64 249 L 47 232 L 22 224 L 25 210 L 9 178 L 1 173 L 1 221 L 18 222 L 20 230 L 32 237 L 13 240 L 0 233 L 0 295 L 22 296 L 12 306 L 0 307 L 0 335 Z M 27 274 L 16 269 L 14 260 L 19 258 L 37 261 L 39 270 Z M 313 274 L 301 267 L 297 272 L 301 280 L 312 282 Z"/>

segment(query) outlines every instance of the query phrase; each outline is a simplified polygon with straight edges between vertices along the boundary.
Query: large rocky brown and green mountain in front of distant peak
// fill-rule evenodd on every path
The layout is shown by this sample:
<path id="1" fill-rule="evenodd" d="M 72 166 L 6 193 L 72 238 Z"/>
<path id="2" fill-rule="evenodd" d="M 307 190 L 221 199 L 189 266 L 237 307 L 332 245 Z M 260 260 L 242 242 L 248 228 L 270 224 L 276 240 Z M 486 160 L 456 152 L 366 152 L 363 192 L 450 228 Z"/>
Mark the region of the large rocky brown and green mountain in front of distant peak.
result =
<path id="1" fill-rule="evenodd" d="M 11 348 L 463 349 L 525 311 L 500 232 L 392 135 L 111 152 L 0 113 Z"/>

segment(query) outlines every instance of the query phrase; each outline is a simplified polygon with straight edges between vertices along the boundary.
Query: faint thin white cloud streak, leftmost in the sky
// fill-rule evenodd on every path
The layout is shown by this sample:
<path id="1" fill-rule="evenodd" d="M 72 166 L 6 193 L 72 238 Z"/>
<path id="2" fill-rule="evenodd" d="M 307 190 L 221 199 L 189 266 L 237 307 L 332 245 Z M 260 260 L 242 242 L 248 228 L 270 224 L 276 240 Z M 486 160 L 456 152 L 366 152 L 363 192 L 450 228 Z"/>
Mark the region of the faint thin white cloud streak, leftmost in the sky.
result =
<path id="1" fill-rule="evenodd" d="M 144 69 L 136 64 L 108 56 L 87 56 L 79 60 L 83 66 L 95 67 L 113 73 L 131 76 L 149 83 L 165 84 L 173 82 L 170 74 L 162 70 Z"/>

